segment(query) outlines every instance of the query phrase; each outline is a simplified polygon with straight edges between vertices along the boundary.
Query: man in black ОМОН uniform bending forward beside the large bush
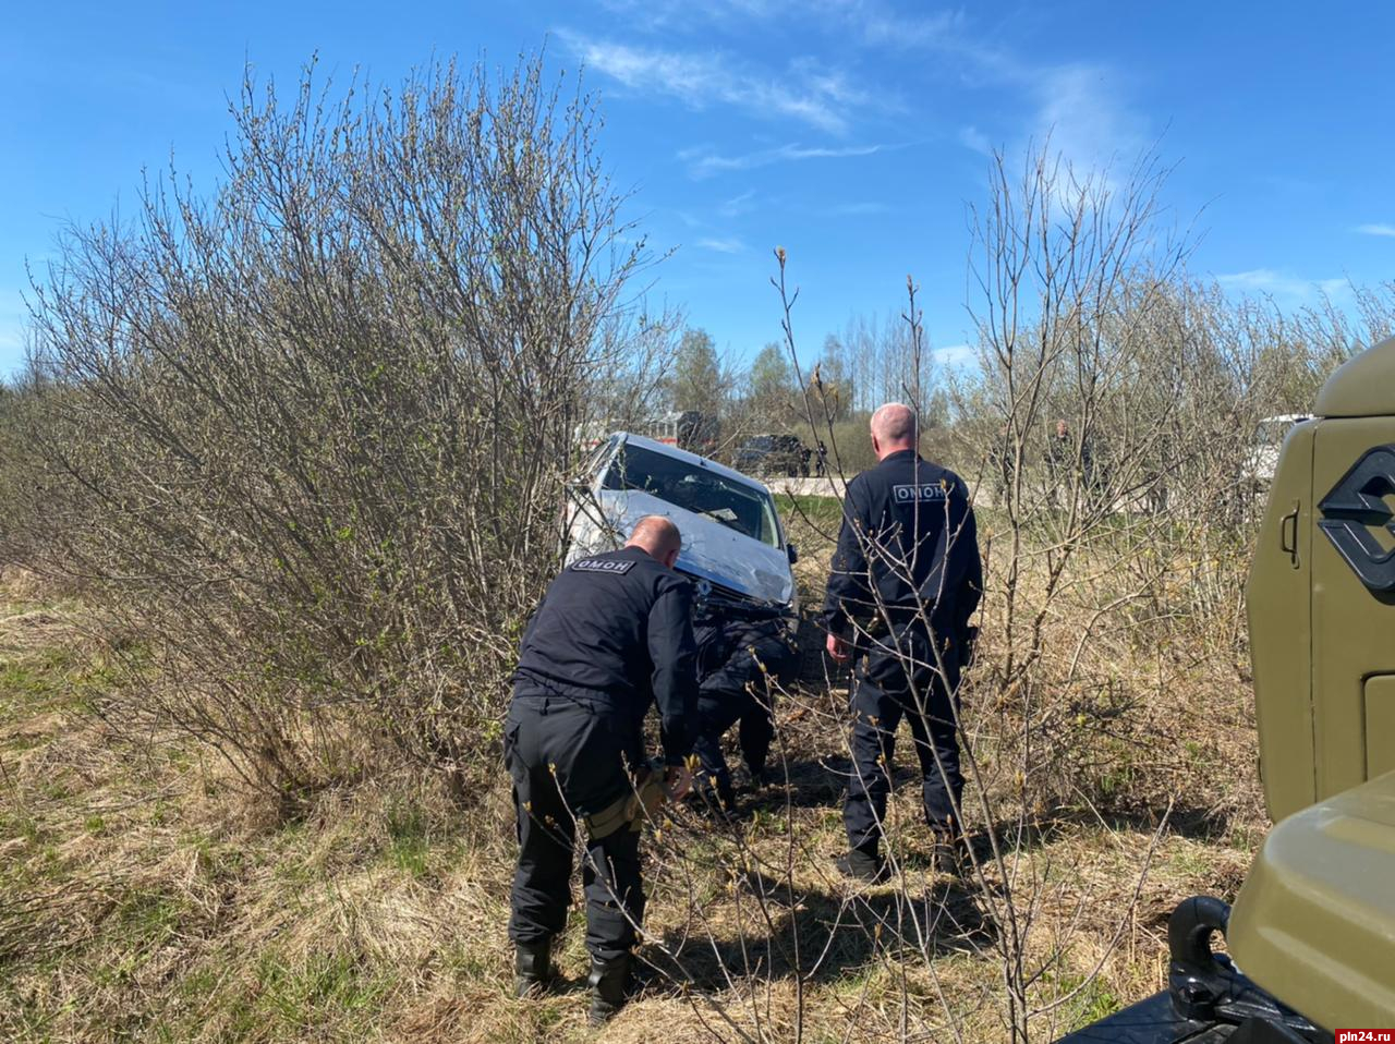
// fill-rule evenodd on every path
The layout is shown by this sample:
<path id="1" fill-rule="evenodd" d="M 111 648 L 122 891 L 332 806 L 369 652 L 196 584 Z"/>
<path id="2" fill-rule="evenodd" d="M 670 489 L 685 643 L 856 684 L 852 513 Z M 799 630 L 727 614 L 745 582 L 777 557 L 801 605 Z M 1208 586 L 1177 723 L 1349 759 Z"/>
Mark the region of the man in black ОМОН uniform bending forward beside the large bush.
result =
<path id="1" fill-rule="evenodd" d="M 591 1020 L 625 1002 L 635 928 L 644 914 L 636 777 L 642 724 L 658 703 L 664 786 L 682 798 L 696 731 L 698 678 L 688 581 L 674 572 L 678 528 L 639 521 L 619 551 L 575 561 L 547 589 L 523 634 L 504 758 L 518 805 L 519 865 L 509 938 L 518 991 L 548 985 L 551 944 L 566 923 L 576 825 L 591 953 Z"/>

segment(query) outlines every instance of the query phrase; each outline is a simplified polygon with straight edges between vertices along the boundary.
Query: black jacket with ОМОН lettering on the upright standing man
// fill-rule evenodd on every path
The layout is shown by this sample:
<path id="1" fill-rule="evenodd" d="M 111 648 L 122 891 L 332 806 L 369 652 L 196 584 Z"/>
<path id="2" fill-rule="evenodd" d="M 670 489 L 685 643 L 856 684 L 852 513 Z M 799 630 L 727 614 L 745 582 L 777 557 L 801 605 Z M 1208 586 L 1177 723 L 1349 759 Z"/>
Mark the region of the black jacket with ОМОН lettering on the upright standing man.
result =
<path id="1" fill-rule="evenodd" d="M 954 472 L 903 449 L 848 483 L 823 606 L 829 631 L 870 624 L 880 602 L 893 622 L 923 607 L 936 634 L 957 639 L 982 590 L 974 509 Z"/>

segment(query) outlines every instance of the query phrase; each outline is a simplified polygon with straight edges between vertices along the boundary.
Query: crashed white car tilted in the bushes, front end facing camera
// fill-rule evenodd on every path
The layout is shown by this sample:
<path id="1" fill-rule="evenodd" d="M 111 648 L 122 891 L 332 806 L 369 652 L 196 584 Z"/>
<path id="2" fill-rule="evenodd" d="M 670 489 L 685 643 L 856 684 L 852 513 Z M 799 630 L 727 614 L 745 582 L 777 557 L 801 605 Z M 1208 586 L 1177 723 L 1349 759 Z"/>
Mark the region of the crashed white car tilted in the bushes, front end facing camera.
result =
<path id="1" fill-rule="evenodd" d="M 696 581 L 699 604 L 732 603 L 794 620 L 794 544 L 762 483 L 651 438 L 611 435 L 571 486 L 566 561 L 611 551 L 644 515 L 674 521 L 677 568 Z"/>

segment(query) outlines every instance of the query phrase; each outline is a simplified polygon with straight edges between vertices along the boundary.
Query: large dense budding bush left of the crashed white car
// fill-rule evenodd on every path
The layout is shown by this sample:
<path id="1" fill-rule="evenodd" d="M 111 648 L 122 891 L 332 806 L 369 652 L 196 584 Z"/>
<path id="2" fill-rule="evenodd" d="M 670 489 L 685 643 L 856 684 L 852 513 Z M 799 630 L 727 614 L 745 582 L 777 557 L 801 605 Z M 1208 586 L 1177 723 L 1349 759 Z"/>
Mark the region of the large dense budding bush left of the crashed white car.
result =
<path id="1" fill-rule="evenodd" d="M 282 794 L 384 741 L 484 770 L 578 426 L 670 339 L 625 297 L 646 255 L 564 87 L 538 60 L 247 82 L 213 197 L 172 174 L 130 226 L 70 230 L 35 286 L 31 546 L 165 667 L 123 727 Z"/>

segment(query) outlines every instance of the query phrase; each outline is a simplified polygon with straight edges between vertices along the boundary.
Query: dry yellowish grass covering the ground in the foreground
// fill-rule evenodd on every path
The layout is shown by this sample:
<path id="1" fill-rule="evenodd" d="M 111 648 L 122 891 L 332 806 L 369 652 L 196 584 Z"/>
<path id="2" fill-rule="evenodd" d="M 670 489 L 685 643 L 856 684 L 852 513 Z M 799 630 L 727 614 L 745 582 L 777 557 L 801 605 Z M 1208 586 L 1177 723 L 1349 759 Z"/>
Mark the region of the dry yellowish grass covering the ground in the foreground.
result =
<path id="1" fill-rule="evenodd" d="M 808 604 L 837 509 L 799 507 L 790 525 L 806 551 Z M 981 888 L 1007 882 L 928 870 L 908 773 L 891 808 L 898 882 L 852 888 L 831 868 L 845 681 L 823 680 L 817 660 L 780 709 L 785 786 L 757 794 L 741 823 L 677 810 L 649 839 L 644 985 L 597 1031 L 585 1024 L 579 907 L 562 945 L 565 988 L 534 1002 L 509 995 L 502 769 L 466 803 L 423 773 L 386 772 L 325 790 L 287 821 L 205 748 L 119 738 L 100 715 L 117 683 L 91 628 L 81 603 L 17 578 L 0 593 L 3 1040 L 1004 1036 L 997 928 Z M 1200 684 L 1186 692 L 1212 698 Z M 1253 790 L 1253 761 L 1221 765 L 1212 748 L 1180 741 L 1177 756 Z M 1056 810 L 1017 839 L 1014 886 L 1031 881 L 1036 896 L 1030 948 L 1042 960 L 1059 953 L 1032 985 L 1042 1005 L 1059 1001 L 1034 1022 L 1036 1037 L 1158 990 L 1172 906 L 1233 897 L 1262 822 L 1179 815 L 1155 835 L 1161 811 Z"/>

